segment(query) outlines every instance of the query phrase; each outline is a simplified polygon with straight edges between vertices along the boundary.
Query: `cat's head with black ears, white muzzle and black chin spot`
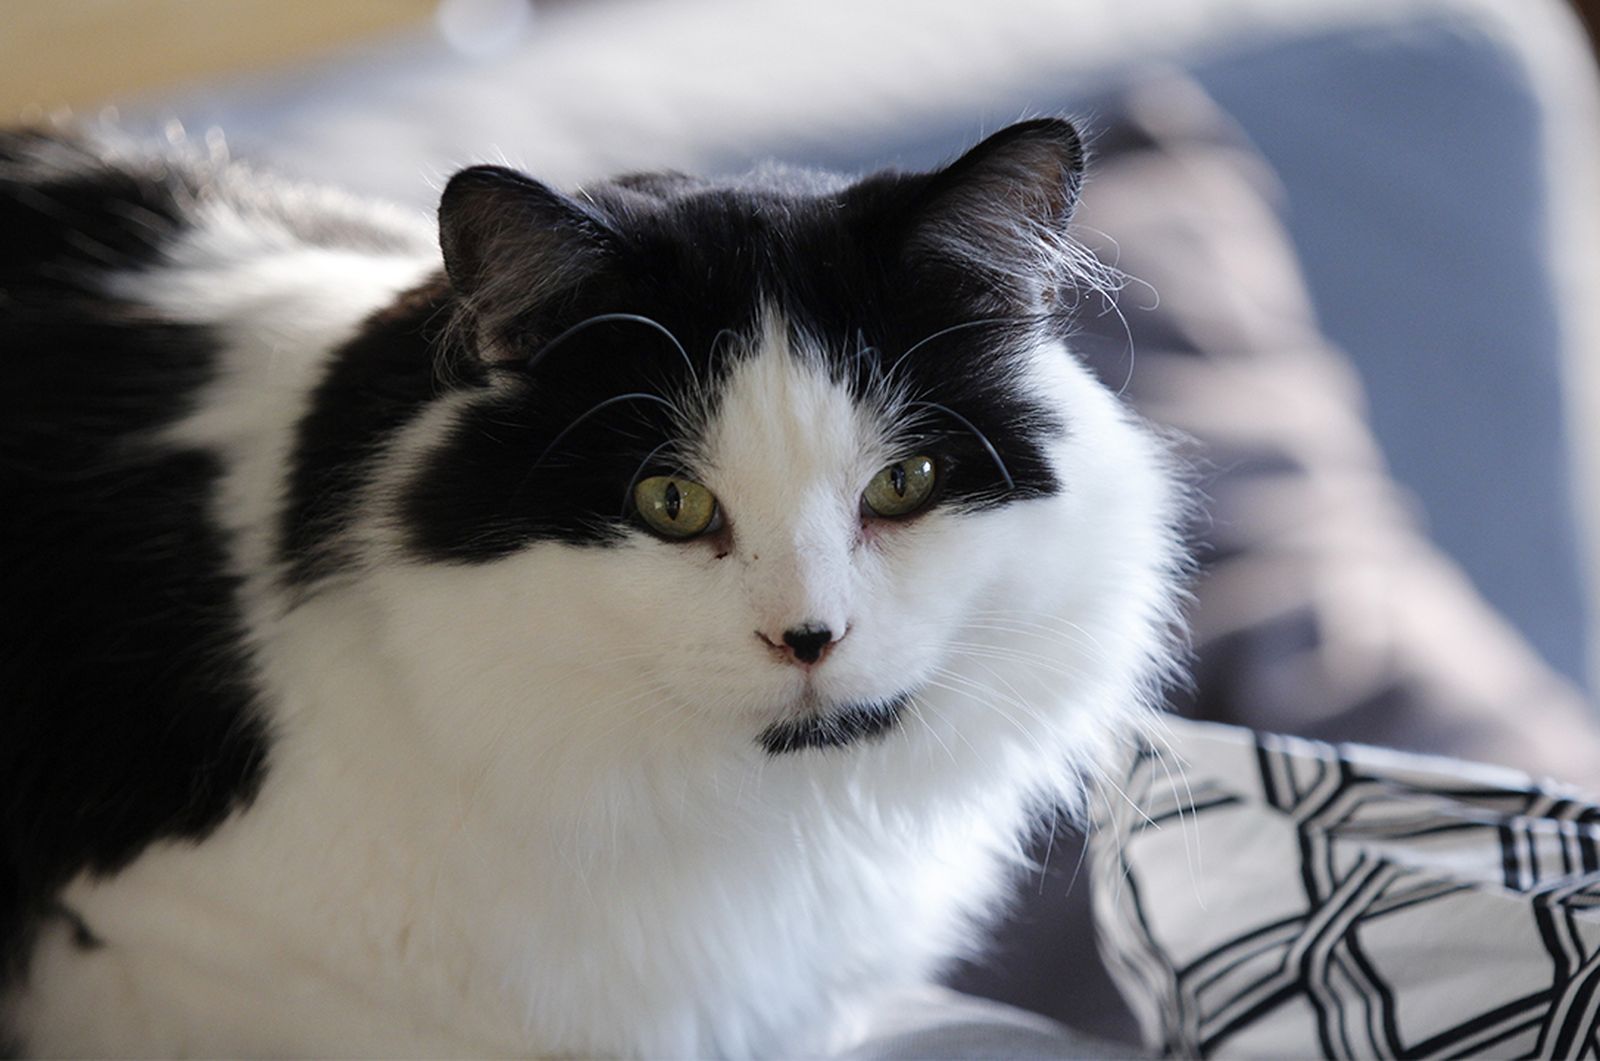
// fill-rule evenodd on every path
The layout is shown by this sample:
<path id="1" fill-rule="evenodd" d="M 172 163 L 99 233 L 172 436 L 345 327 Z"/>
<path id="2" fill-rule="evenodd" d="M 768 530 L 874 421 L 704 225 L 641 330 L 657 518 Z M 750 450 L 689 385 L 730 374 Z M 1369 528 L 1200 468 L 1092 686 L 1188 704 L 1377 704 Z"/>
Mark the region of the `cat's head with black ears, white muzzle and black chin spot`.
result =
<path id="1" fill-rule="evenodd" d="M 859 181 L 458 173 L 440 237 L 475 382 L 394 502 L 418 651 L 462 698 L 560 701 L 544 751 L 1037 744 L 1134 709 L 1171 504 L 1062 342 L 1082 171 L 1037 120 Z"/>

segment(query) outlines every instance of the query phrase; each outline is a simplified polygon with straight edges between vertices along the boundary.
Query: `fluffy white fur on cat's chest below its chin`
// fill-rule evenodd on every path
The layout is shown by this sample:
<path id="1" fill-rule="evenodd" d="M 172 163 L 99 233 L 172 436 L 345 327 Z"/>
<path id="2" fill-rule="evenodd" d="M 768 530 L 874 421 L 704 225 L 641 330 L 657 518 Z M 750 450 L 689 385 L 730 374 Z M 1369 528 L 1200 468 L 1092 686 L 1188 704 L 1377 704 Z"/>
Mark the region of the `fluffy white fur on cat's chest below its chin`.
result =
<path id="1" fill-rule="evenodd" d="M 392 669 L 338 632 L 370 629 L 363 607 L 299 619 L 338 667 L 285 683 L 293 736 L 246 815 L 67 891 L 104 946 L 46 941 L 22 1000 L 30 1042 L 792 1053 L 925 978 L 1002 880 L 1021 807 L 930 813 L 906 776 L 885 792 L 891 778 L 870 775 L 915 770 L 909 747 L 845 749 L 824 770 L 752 759 L 709 784 L 595 778 L 586 813 L 504 821 L 422 746 Z"/>

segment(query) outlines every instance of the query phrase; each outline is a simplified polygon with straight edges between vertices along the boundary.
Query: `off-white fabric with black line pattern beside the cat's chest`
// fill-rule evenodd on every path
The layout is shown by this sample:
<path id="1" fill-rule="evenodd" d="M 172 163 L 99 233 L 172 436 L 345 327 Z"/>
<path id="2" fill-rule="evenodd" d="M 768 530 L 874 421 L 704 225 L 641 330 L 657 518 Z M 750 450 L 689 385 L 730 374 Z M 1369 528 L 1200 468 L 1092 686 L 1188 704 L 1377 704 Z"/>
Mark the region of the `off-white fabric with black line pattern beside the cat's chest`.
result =
<path id="1" fill-rule="evenodd" d="M 1600 807 L 1496 767 L 1171 727 L 1091 842 L 1147 1045 L 1600 1056 Z"/>

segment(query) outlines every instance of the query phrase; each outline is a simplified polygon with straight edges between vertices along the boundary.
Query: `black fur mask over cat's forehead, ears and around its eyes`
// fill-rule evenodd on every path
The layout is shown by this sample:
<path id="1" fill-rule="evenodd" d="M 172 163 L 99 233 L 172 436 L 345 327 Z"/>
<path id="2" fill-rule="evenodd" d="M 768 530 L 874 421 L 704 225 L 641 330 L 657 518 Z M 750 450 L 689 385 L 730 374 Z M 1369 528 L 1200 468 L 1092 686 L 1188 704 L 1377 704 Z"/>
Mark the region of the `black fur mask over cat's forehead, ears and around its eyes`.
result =
<path id="1" fill-rule="evenodd" d="M 1067 154 L 1056 208 L 1070 208 L 1075 139 L 1058 142 L 1061 123 L 1035 133 L 1048 141 L 1035 154 Z M 1026 141 L 1011 136 L 995 150 Z M 982 158 L 970 158 L 962 165 L 982 171 Z M 414 551 L 485 562 L 531 541 L 621 541 L 637 475 L 693 474 L 683 451 L 701 424 L 683 422 L 674 405 L 726 374 L 768 309 L 862 402 L 875 400 L 883 376 L 902 387 L 912 398 L 907 450 L 939 461 L 938 504 L 981 509 L 1056 491 L 1045 445 L 1062 424 L 1019 384 L 1016 365 L 1021 349 L 1064 328 L 1050 309 L 1058 299 L 1013 290 L 1027 262 L 986 266 L 944 250 L 939 226 L 965 224 L 942 216 L 952 195 L 944 174 L 856 184 L 669 174 L 594 186 L 578 203 L 517 174 L 467 171 L 446 189 L 442 214 L 462 288 L 454 334 L 501 386 L 414 480 L 405 504 Z M 552 261 L 573 262 L 555 291 Z M 483 280 L 518 269 L 528 283 Z M 536 294 L 520 307 L 483 306 L 517 291 Z M 714 400 L 715 386 L 702 390 Z"/>

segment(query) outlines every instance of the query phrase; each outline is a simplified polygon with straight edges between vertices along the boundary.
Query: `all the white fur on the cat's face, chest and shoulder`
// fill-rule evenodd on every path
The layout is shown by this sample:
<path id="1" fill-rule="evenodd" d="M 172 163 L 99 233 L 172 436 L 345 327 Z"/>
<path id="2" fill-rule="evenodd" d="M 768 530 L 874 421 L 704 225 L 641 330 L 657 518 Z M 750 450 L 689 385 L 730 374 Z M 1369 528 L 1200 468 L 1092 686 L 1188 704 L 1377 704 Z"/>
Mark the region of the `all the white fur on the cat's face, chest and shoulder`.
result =
<path id="1" fill-rule="evenodd" d="M 125 294 L 224 326 L 163 443 L 216 451 L 275 744 L 259 799 L 64 901 L 16 1018 L 42 1053 L 795 1055 L 930 978 L 992 914 L 1045 800 L 1142 712 L 1173 600 L 1158 448 L 1062 349 L 1032 384 L 1070 430 L 1053 498 L 864 538 L 878 424 L 781 320 L 718 406 L 701 480 L 731 552 L 645 535 L 426 565 L 387 546 L 309 600 L 272 578 L 283 459 L 325 355 L 437 267 L 264 248 L 221 218 Z M 419 246 L 422 242 L 419 240 Z M 798 354 L 798 355 L 797 355 Z M 755 635 L 848 635 L 822 698 L 917 688 L 882 741 L 771 759 L 805 674 Z"/>

